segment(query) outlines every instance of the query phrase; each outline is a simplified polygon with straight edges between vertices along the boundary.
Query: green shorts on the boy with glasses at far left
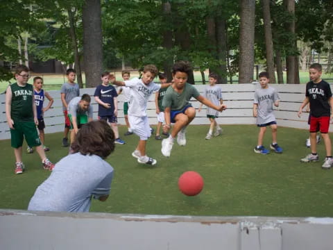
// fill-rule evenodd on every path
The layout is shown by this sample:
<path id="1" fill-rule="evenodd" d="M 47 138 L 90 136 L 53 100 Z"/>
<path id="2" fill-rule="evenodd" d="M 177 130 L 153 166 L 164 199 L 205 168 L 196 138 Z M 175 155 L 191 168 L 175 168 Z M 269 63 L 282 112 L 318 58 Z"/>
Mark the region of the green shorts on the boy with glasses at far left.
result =
<path id="1" fill-rule="evenodd" d="M 26 143 L 29 147 L 37 147 L 42 144 L 35 122 L 14 122 L 14 128 L 10 129 L 11 145 L 13 148 L 18 149 L 22 147 L 24 138 L 26 138 Z"/>

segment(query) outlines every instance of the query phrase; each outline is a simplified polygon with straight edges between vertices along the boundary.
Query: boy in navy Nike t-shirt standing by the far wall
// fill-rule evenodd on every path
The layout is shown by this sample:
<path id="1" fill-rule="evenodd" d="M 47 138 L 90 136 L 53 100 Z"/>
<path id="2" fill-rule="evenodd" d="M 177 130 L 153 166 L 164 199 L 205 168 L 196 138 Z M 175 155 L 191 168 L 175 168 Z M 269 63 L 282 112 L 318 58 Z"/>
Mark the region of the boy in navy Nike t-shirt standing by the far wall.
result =
<path id="1" fill-rule="evenodd" d="M 115 140 L 117 144 L 125 144 L 123 140 L 119 138 L 119 131 L 117 126 L 117 90 L 109 83 L 110 72 L 104 72 L 101 76 L 102 84 L 97 86 L 94 98 L 96 103 L 99 103 L 99 119 L 103 119 L 108 122 L 114 132 Z"/>

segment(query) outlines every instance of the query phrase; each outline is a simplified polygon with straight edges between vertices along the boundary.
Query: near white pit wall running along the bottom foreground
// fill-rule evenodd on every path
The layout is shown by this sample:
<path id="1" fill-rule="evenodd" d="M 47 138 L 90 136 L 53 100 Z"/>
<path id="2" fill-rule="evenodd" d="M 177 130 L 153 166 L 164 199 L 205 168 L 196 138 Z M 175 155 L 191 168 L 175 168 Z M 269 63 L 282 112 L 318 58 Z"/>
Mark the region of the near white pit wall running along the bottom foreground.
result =
<path id="1" fill-rule="evenodd" d="M 0 249 L 333 249 L 332 218 L 0 210 Z"/>

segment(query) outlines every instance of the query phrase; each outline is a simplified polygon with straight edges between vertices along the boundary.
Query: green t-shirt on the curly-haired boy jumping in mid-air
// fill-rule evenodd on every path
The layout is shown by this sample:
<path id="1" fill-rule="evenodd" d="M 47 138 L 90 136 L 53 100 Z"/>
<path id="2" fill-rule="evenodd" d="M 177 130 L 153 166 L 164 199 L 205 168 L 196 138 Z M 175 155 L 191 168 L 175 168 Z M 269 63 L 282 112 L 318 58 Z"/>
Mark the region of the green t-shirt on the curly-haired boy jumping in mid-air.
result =
<path id="1" fill-rule="evenodd" d="M 185 83 L 184 90 L 181 93 L 173 90 L 171 86 L 164 94 L 162 106 L 164 108 L 170 107 L 171 110 L 182 110 L 182 108 L 189 104 L 191 97 L 198 98 L 199 95 L 200 93 L 194 85 L 189 83 Z"/>

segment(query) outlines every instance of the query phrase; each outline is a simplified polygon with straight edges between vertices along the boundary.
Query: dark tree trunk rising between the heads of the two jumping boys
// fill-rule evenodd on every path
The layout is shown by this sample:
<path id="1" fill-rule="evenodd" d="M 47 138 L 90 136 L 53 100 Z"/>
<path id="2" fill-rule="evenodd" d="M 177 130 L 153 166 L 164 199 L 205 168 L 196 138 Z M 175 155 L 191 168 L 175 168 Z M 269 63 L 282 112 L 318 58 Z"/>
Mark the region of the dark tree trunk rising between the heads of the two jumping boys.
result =
<path id="1" fill-rule="evenodd" d="M 163 47 L 164 49 L 170 50 L 173 47 L 172 40 L 172 22 L 171 22 L 171 3 L 169 1 L 164 1 L 162 3 L 162 17 L 163 17 Z M 168 83 L 172 80 L 171 67 L 173 64 L 173 58 L 167 57 L 163 63 L 164 74 L 166 74 Z"/>

